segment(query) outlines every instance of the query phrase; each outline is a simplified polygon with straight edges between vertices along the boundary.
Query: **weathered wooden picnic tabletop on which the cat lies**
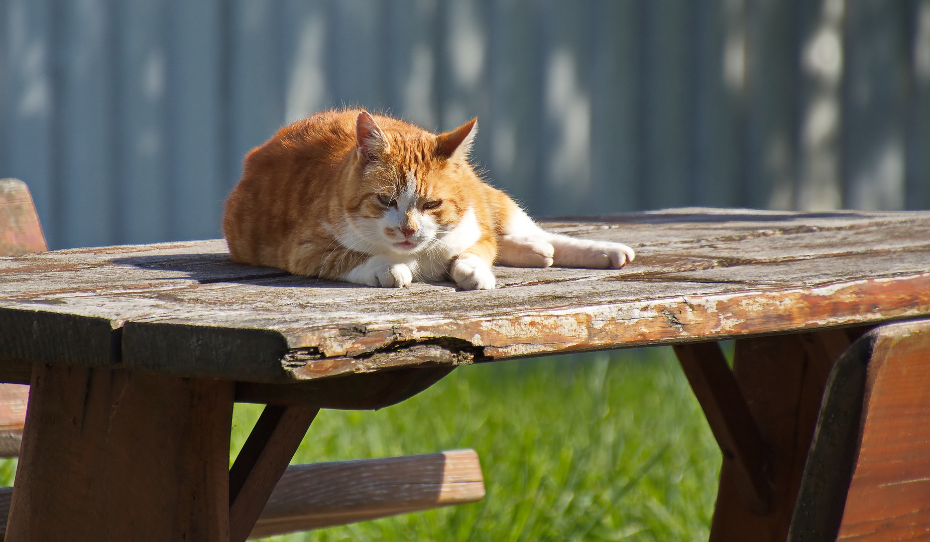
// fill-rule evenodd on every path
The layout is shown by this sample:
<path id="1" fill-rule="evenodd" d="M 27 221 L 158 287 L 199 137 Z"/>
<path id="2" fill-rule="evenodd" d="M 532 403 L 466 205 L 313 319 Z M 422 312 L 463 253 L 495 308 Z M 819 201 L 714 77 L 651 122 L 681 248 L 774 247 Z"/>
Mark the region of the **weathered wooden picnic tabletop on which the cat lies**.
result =
<path id="1" fill-rule="evenodd" d="M 595 219 L 545 226 L 631 245 L 631 265 L 498 267 L 493 291 L 292 276 L 221 240 L 0 258 L 0 363 L 292 382 L 930 314 L 930 212 Z"/>

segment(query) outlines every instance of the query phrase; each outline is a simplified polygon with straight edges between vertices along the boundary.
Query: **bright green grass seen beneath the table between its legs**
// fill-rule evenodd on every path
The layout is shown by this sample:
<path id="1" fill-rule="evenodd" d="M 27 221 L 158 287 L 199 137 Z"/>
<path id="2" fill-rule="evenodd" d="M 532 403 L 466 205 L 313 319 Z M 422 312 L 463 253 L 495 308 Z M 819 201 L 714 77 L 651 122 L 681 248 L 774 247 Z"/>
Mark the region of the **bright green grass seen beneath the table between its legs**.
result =
<path id="1" fill-rule="evenodd" d="M 233 456 L 260 407 L 236 405 Z M 378 412 L 323 411 L 295 463 L 473 448 L 484 501 L 276 542 L 706 540 L 721 456 L 670 349 L 460 367 Z"/>

